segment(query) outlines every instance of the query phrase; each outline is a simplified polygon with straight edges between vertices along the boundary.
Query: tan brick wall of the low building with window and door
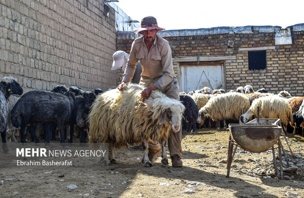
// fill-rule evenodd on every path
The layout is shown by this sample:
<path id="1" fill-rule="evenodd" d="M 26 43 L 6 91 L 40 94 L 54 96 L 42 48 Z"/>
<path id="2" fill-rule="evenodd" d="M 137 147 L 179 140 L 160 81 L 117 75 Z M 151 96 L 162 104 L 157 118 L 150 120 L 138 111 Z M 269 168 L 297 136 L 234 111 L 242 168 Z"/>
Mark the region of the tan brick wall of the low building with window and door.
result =
<path id="1" fill-rule="evenodd" d="M 196 57 L 198 53 L 204 58 L 235 56 L 235 59 L 224 61 L 228 91 L 235 90 L 239 86 L 252 85 L 254 90 L 266 88 L 273 93 L 287 90 L 291 95 L 303 96 L 304 31 L 293 32 L 294 44 L 276 45 L 275 36 L 278 31 L 276 28 L 274 27 L 274 31 L 269 31 L 269 28 L 264 31 L 260 27 L 255 29 L 249 27 L 249 30 L 246 29 L 241 33 L 231 33 L 231 31 L 213 33 L 213 28 L 203 35 L 195 31 L 192 36 L 180 36 L 184 30 L 170 31 L 170 33 L 161 31 L 158 34 L 161 33 L 160 36 L 170 42 L 173 58 Z M 130 50 L 135 37 L 132 32 L 129 32 L 129 35 L 133 35 L 134 38 L 126 34 L 117 35 L 118 50 Z M 177 36 L 168 36 L 174 34 Z M 234 41 L 233 46 L 228 46 L 228 41 Z M 253 47 L 269 47 L 266 49 L 266 69 L 259 71 L 248 69 L 248 51 L 240 48 Z"/>

